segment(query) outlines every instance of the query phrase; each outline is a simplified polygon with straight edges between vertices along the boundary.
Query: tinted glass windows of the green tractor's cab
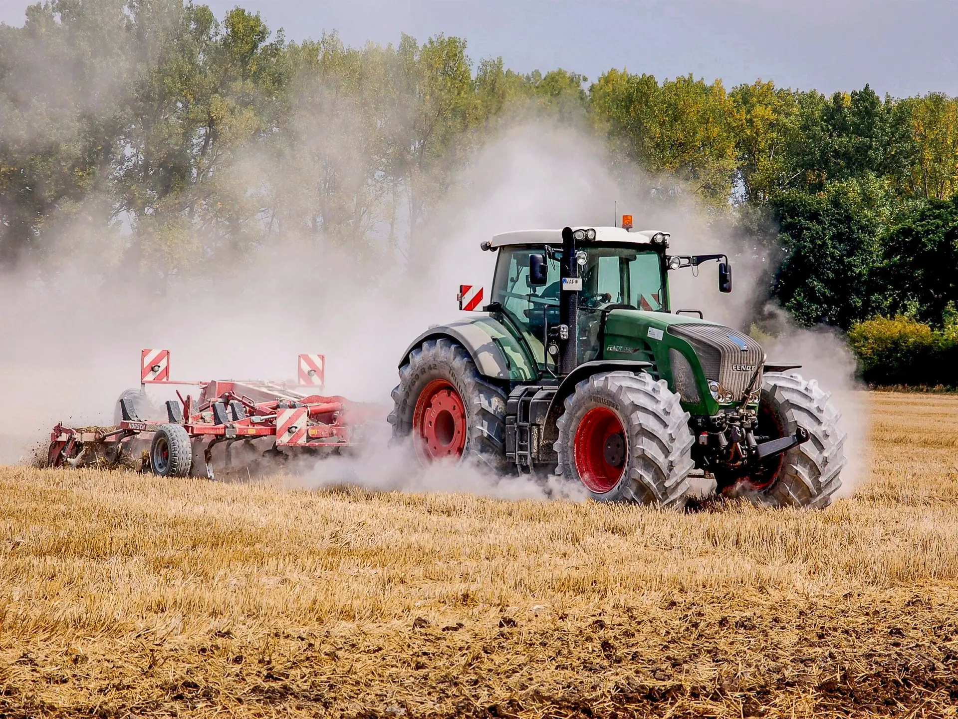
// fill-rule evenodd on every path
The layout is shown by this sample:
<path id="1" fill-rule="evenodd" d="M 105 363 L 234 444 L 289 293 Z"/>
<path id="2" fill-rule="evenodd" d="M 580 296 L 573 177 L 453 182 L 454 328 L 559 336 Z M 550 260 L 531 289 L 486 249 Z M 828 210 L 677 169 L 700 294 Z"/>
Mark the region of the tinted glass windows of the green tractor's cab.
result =
<path id="1" fill-rule="evenodd" d="M 586 312 L 579 313 L 579 324 L 581 360 L 587 361 L 595 358 L 599 351 L 599 311 L 610 305 L 619 305 L 647 312 L 665 312 L 667 298 L 661 259 L 655 250 L 634 245 L 585 245 L 582 249 L 587 252 L 588 260 L 580 269 L 582 292 L 579 304 Z M 544 333 L 548 327 L 559 324 L 561 286 L 559 248 L 556 248 L 556 256 L 546 260 L 549 270 L 546 284 L 529 284 L 529 257 L 544 253 L 541 246 L 503 247 L 499 250 L 492 281 L 492 301 L 501 304 L 513 322 L 519 325 L 539 363 L 545 360 Z M 587 312 L 589 310 L 593 312 Z"/>

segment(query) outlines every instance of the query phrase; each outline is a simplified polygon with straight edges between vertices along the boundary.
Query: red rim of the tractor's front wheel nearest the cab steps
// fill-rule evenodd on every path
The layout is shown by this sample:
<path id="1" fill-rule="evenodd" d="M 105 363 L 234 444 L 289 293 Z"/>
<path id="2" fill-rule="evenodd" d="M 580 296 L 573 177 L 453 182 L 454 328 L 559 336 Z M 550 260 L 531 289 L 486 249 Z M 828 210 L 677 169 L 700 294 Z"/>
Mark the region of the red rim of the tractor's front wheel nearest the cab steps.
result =
<path id="1" fill-rule="evenodd" d="M 626 432 L 619 416 L 608 407 L 589 409 L 576 429 L 573 448 L 582 484 L 604 494 L 626 470 Z"/>

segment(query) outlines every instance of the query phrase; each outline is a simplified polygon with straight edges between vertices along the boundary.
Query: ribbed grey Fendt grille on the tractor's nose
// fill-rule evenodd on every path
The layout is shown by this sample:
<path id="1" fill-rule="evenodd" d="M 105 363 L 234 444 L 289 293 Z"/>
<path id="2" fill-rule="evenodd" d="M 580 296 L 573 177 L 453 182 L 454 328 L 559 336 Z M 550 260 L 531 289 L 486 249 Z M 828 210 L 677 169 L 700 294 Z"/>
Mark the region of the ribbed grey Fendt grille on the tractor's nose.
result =
<path id="1" fill-rule="evenodd" d="M 764 361 L 762 345 L 750 336 L 721 325 L 670 325 L 669 334 L 692 345 L 708 380 L 716 380 L 732 393 L 733 402 L 741 402 L 755 368 Z M 762 372 L 755 380 L 762 386 Z"/>

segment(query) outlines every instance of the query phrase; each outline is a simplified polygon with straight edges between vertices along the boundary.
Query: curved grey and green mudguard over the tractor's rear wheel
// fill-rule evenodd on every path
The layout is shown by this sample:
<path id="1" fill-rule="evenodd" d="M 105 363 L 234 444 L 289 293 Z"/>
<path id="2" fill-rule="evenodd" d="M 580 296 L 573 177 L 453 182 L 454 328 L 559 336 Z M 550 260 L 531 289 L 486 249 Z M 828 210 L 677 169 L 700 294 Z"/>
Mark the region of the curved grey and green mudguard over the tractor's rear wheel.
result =
<path id="1" fill-rule="evenodd" d="M 409 353 L 426 339 L 451 337 L 466 348 L 479 374 L 492 380 L 534 382 L 538 379 L 536 361 L 515 337 L 496 319 L 477 316 L 430 327 L 416 337 L 399 359 L 401 367 Z"/>

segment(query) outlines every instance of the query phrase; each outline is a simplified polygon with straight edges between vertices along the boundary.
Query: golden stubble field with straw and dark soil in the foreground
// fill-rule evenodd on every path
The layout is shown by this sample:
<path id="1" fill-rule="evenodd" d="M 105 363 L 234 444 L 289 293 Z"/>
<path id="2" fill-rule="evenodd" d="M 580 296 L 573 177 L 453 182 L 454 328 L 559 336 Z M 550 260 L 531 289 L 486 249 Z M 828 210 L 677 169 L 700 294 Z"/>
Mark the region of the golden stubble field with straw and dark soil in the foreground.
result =
<path id="1" fill-rule="evenodd" d="M 953 715 L 958 398 L 824 512 L 0 468 L 0 717 Z"/>

